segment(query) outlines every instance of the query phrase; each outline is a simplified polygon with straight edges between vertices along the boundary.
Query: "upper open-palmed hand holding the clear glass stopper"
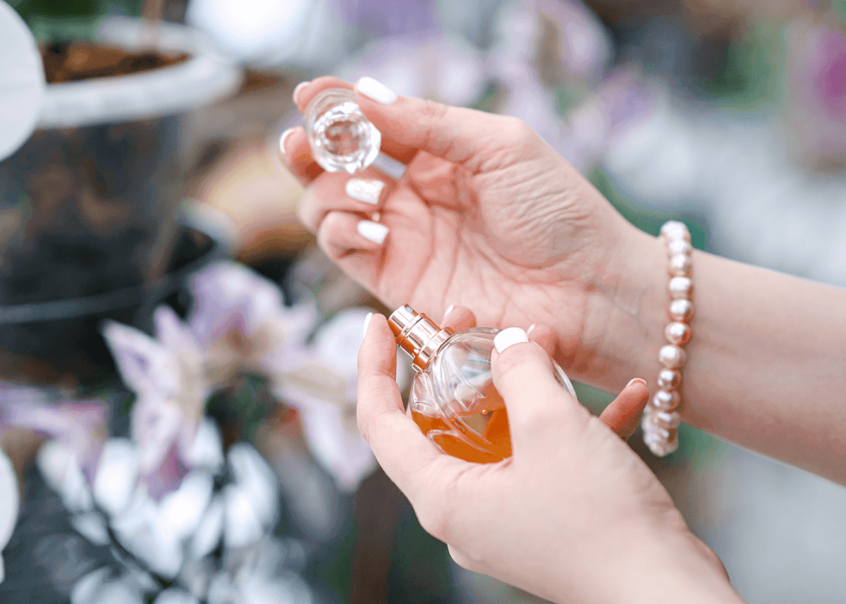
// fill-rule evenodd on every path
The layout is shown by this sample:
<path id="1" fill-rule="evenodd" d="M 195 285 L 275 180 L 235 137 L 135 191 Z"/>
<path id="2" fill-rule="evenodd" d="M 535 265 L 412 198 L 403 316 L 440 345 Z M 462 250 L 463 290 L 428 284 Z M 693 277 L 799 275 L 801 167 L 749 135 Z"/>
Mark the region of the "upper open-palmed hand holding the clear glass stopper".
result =
<path id="1" fill-rule="evenodd" d="M 617 270 L 609 259 L 620 256 L 629 223 L 518 119 L 380 86 L 361 80 L 355 97 L 382 132 L 382 152 L 407 164 L 398 181 L 373 167 L 354 177 L 324 173 L 303 129 L 283 135 L 283 161 L 306 185 L 299 215 L 321 248 L 388 306 L 408 303 L 431 316 L 471 306 L 496 327 L 548 323 L 564 357 L 574 354 L 591 291 Z M 318 78 L 298 86 L 294 100 L 304 111 L 332 87 L 349 84 Z"/>

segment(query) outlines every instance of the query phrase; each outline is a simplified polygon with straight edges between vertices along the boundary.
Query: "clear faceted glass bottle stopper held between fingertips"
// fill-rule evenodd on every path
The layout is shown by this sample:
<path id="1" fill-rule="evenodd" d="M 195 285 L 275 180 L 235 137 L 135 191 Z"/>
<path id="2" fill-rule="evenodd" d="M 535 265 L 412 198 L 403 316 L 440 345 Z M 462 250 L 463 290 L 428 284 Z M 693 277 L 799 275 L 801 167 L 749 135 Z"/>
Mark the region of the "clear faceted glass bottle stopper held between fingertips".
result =
<path id="1" fill-rule="evenodd" d="M 305 107 L 303 118 L 311 156 L 327 172 L 354 174 L 379 155 L 382 133 L 365 118 L 353 91 L 322 91 Z"/>

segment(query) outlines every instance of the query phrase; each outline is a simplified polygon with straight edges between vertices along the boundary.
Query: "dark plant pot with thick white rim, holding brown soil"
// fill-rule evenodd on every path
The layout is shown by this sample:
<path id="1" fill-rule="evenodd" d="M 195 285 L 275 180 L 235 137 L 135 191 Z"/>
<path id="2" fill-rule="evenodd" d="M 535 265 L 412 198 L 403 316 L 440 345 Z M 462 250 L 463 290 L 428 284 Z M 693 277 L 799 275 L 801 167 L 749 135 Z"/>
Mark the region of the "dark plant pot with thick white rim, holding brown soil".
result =
<path id="1" fill-rule="evenodd" d="M 178 222 L 181 116 L 240 72 L 192 30 L 138 19 L 42 56 L 38 129 L 0 162 L 0 379 L 85 382 L 113 369 L 101 321 L 147 327 L 179 287 L 168 273 L 211 249 Z"/>

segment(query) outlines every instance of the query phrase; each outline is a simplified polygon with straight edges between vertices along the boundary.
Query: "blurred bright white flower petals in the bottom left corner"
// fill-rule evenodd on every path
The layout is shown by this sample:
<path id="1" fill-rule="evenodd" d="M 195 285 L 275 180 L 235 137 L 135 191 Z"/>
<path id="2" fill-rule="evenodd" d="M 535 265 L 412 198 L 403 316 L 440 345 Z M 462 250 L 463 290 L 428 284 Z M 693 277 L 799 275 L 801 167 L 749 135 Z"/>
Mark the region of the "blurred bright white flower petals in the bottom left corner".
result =
<path id="1" fill-rule="evenodd" d="M 127 439 L 106 442 L 93 487 L 81 480 L 78 466 L 77 480 L 66 480 L 73 474 L 67 466 L 74 464 L 63 443 L 52 441 L 41 449 L 39 468 L 63 494 L 71 524 L 89 541 L 125 552 L 118 557 L 124 572 L 86 575 L 74 586 L 74 603 L 148 601 L 162 580 L 174 585 L 159 594 L 162 601 L 212 601 L 221 577 L 234 589 L 258 582 L 276 585 L 279 594 L 299 594 L 299 599 L 280 601 L 310 601 L 298 577 L 278 574 L 284 547 L 269 536 L 278 508 L 272 469 L 246 442 L 229 448 L 224 462 L 220 435 L 208 419 L 201 422 L 195 442 L 204 440 L 209 442 L 195 447 L 194 468 L 158 501 L 138 480 L 140 454 Z M 211 450 L 219 457 L 201 454 Z M 261 566 L 257 561 L 271 551 L 277 564 Z"/>

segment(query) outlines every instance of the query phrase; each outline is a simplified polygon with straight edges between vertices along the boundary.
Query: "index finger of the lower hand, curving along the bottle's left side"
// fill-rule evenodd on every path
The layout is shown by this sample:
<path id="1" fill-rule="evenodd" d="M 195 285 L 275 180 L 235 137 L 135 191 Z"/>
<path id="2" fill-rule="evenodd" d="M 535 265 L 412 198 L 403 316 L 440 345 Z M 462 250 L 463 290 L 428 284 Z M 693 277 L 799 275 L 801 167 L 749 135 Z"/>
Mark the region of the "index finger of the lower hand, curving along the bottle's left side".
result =
<path id="1" fill-rule="evenodd" d="M 436 497 L 456 469 L 467 466 L 442 453 L 404 414 L 396 381 L 397 343 L 382 315 L 365 327 L 359 351 L 358 420 L 373 454 L 414 504 L 427 491 Z"/>

